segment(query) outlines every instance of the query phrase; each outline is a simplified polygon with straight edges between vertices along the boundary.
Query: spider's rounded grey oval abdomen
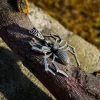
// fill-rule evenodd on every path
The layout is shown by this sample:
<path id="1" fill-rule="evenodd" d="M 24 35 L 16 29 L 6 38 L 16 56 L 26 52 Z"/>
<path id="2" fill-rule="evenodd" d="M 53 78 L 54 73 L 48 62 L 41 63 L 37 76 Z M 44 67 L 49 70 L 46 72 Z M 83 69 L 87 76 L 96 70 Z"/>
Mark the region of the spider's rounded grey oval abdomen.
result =
<path id="1" fill-rule="evenodd" d="M 63 64 L 67 65 L 69 63 L 68 54 L 63 50 L 57 50 L 55 55 L 58 57 L 58 60 Z"/>

